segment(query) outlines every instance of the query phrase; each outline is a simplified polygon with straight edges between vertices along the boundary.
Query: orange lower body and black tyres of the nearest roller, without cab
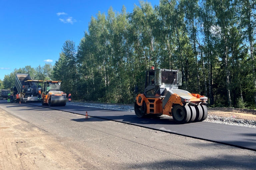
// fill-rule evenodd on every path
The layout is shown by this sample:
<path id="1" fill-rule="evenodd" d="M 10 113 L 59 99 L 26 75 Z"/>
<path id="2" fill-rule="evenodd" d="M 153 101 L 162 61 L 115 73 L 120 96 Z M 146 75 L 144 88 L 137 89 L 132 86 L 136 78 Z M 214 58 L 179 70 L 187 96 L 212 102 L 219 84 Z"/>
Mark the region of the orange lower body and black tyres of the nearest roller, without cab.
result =
<path id="1" fill-rule="evenodd" d="M 134 111 L 139 118 L 168 115 L 173 117 L 175 122 L 185 124 L 204 121 L 208 115 L 206 102 L 182 103 L 179 100 L 179 96 L 174 94 L 177 100 L 174 101 L 170 98 L 170 105 L 167 104 L 167 106 L 162 108 L 163 98 L 146 98 L 145 96 L 141 98 L 141 96 L 144 95 L 139 94 L 134 103 Z"/>

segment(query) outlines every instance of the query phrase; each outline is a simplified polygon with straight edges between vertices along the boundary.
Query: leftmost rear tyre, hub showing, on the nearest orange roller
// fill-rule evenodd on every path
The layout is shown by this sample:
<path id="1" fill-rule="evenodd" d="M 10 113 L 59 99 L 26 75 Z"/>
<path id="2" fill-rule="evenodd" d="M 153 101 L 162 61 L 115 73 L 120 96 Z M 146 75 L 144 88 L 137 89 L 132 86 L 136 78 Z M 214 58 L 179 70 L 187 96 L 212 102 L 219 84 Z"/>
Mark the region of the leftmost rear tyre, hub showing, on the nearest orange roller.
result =
<path id="1" fill-rule="evenodd" d="M 191 111 L 188 105 L 175 105 L 172 109 L 172 118 L 179 124 L 185 124 L 190 121 Z"/>

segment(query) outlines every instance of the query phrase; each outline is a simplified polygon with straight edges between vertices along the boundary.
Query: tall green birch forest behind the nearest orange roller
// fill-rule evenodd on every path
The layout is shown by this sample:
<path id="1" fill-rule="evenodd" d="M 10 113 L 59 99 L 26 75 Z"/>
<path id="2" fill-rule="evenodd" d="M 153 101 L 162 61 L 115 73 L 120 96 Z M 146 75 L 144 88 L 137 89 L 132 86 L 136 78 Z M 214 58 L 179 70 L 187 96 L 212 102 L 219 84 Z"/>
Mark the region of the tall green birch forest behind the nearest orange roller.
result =
<path id="1" fill-rule="evenodd" d="M 154 7 L 140 1 L 132 12 L 110 7 L 91 17 L 77 46 L 64 42 L 49 77 L 62 80 L 73 99 L 133 103 L 145 70 L 178 69 L 181 89 L 207 96 L 210 106 L 255 109 L 255 8 L 255 0 L 160 0 Z"/>

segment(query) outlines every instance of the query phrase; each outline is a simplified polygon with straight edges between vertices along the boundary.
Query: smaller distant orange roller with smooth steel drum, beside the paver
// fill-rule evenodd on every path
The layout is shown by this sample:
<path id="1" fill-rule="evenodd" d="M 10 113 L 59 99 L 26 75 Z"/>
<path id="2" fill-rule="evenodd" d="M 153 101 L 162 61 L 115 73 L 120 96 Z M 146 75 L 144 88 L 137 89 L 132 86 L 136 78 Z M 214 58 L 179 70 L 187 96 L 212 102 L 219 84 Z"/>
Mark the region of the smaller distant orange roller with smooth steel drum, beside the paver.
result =
<path id="1" fill-rule="evenodd" d="M 42 105 L 65 106 L 67 94 L 61 91 L 61 81 L 44 81 L 42 88 Z"/>

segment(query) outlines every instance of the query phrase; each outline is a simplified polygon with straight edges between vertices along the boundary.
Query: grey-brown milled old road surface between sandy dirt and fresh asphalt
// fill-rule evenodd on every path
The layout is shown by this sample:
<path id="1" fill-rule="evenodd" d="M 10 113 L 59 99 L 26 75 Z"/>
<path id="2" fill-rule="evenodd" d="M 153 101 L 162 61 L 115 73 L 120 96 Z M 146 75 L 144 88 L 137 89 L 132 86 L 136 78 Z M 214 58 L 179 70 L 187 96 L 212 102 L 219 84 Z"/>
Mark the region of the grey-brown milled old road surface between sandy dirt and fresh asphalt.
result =
<path id="1" fill-rule="evenodd" d="M 81 169 L 256 167 L 256 152 L 247 149 L 26 104 L 1 101 L 0 108 L 47 131 Z"/>

